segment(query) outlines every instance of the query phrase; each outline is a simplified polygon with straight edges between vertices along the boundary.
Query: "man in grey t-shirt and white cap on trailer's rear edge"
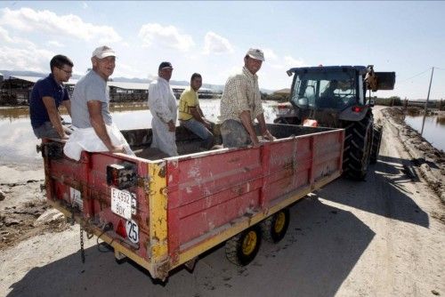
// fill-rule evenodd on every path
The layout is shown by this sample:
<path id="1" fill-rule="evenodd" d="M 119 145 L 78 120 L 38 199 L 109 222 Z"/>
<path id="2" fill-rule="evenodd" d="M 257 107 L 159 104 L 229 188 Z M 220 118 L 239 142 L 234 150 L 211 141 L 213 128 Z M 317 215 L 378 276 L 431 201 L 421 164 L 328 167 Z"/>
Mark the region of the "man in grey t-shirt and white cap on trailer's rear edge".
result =
<path id="1" fill-rule="evenodd" d="M 109 114 L 107 81 L 116 66 L 116 54 L 108 46 L 100 46 L 94 50 L 91 61 L 93 69 L 74 88 L 71 118 L 77 130 L 65 144 L 65 155 L 75 160 L 82 150 L 134 155 Z"/>

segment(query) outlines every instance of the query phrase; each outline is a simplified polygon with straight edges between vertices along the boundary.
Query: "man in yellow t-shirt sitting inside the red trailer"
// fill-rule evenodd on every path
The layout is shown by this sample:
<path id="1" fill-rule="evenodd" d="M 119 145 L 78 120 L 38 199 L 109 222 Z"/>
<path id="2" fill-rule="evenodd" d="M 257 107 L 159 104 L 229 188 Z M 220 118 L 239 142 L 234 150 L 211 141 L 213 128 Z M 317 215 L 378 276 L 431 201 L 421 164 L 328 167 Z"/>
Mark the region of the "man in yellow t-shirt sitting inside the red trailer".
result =
<path id="1" fill-rule="evenodd" d="M 179 123 L 194 132 L 203 140 L 202 146 L 212 148 L 214 144 L 213 123 L 208 121 L 201 108 L 199 108 L 198 90 L 202 85 L 202 76 L 194 73 L 190 78 L 190 87 L 187 87 L 179 99 Z"/>

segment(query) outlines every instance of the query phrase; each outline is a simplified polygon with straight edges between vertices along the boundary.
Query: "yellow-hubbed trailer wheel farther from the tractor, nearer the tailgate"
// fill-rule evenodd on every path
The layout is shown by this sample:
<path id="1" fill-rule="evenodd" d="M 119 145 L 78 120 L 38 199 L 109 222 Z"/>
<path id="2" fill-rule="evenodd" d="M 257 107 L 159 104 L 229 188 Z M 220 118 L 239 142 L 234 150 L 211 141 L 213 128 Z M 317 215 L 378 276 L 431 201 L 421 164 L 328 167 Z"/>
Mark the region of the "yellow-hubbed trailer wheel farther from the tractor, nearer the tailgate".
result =
<path id="1" fill-rule="evenodd" d="M 261 228 L 255 225 L 231 237 L 225 243 L 225 254 L 229 261 L 246 266 L 255 259 L 261 245 Z"/>

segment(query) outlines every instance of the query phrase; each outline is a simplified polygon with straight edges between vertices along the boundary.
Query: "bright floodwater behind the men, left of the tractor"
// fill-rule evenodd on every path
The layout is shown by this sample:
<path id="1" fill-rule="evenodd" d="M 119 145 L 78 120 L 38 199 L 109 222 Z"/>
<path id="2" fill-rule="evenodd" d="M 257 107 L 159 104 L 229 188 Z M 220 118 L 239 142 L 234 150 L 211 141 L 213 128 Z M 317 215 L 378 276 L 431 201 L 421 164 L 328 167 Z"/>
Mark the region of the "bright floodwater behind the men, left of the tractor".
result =
<path id="1" fill-rule="evenodd" d="M 217 123 L 220 100 L 200 100 L 199 104 L 206 118 Z M 276 105 L 274 101 L 263 102 L 266 123 L 273 122 Z M 121 130 L 151 127 L 151 113 L 146 102 L 115 104 L 110 109 L 114 122 Z M 70 123 L 71 118 L 63 111 L 63 119 Z M 42 163 L 40 154 L 36 152 L 40 140 L 32 132 L 28 107 L 0 108 L 0 139 L 0 164 Z"/>

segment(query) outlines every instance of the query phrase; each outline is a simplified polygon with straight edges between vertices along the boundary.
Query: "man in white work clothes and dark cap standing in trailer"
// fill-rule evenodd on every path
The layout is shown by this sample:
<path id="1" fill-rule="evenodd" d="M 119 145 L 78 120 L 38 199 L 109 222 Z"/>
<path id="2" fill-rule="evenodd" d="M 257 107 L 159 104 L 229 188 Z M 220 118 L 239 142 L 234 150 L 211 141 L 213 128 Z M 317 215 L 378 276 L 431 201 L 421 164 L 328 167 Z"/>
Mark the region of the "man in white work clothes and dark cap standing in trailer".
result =
<path id="1" fill-rule="evenodd" d="M 178 156 L 176 147 L 176 97 L 169 84 L 173 67 L 170 62 L 162 62 L 158 67 L 158 77 L 149 86 L 149 108 L 153 138 L 151 148 L 158 148 L 168 156 Z"/>

